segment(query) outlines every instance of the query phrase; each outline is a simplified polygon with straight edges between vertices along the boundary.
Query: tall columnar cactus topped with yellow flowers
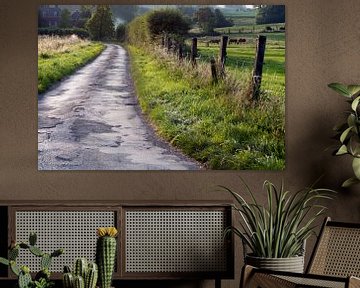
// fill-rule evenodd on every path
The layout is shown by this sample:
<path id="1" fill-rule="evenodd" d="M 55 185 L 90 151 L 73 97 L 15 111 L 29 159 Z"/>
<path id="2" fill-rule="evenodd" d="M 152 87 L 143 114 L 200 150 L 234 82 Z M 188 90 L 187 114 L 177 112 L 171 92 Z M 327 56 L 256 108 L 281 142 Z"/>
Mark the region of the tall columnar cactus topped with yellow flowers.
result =
<path id="1" fill-rule="evenodd" d="M 116 236 L 115 227 L 97 229 L 96 262 L 99 267 L 100 288 L 110 288 L 112 274 L 114 272 L 116 258 Z"/>

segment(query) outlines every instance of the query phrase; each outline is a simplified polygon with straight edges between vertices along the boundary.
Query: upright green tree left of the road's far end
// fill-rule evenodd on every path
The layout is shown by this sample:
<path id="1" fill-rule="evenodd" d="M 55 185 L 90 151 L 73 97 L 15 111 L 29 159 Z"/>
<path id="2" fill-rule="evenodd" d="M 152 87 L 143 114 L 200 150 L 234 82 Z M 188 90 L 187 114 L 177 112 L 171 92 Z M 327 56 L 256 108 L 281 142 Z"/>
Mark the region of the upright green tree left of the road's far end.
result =
<path id="1" fill-rule="evenodd" d="M 98 5 L 96 11 L 86 23 L 91 38 L 94 40 L 110 39 L 114 35 L 114 22 L 109 5 Z"/>

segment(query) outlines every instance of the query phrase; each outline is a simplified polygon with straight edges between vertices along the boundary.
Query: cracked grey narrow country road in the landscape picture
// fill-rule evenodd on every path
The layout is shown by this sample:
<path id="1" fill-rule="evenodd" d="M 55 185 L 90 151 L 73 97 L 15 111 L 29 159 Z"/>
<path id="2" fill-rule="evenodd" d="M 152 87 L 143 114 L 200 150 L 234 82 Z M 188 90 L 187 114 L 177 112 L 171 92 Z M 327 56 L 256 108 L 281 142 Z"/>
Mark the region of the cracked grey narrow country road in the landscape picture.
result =
<path id="1" fill-rule="evenodd" d="M 39 170 L 195 170 L 144 121 L 129 59 L 107 45 L 38 100 Z"/>

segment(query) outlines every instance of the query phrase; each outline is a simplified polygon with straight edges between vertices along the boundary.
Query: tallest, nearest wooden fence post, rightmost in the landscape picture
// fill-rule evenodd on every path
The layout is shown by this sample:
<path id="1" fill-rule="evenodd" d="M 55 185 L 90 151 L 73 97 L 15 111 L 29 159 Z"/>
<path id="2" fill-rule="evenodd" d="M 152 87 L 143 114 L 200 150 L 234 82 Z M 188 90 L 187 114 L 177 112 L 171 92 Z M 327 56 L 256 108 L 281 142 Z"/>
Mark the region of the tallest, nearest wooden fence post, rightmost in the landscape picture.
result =
<path id="1" fill-rule="evenodd" d="M 264 65 L 265 47 L 266 47 L 266 36 L 259 36 L 256 42 L 255 64 L 254 64 L 254 70 L 252 76 L 252 98 L 255 101 L 258 101 L 260 97 L 260 87 L 261 87 L 262 68 Z"/>

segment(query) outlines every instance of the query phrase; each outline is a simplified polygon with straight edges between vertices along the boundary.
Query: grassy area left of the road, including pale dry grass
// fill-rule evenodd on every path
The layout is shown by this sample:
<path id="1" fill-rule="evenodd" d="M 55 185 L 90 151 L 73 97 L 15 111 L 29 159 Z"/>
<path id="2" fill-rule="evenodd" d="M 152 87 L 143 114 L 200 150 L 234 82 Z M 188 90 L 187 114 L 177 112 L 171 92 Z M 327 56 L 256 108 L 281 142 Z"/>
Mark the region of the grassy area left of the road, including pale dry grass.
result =
<path id="1" fill-rule="evenodd" d="M 38 93 L 95 58 L 104 47 L 76 36 L 38 36 Z"/>

